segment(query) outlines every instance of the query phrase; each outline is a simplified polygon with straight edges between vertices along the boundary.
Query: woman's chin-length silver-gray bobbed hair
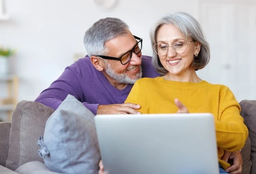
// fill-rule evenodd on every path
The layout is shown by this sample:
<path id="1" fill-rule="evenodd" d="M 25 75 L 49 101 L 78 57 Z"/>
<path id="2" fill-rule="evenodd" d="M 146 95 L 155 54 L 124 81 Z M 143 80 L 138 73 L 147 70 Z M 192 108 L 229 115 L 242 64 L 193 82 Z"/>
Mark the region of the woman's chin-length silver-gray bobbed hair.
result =
<path id="1" fill-rule="evenodd" d="M 201 49 L 198 57 L 194 57 L 192 66 L 194 69 L 204 68 L 210 61 L 210 47 L 209 43 L 204 38 L 204 32 L 198 21 L 185 12 L 176 12 L 173 14 L 166 14 L 160 18 L 150 30 L 150 40 L 152 47 L 156 44 L 156 36 L 159 28 L 164 24 L 175 25 L 186 37 L 191 37 L 194 41 L 201 43 Z M 168 71 L 163 67 L 159 60 L 158 54 L 153 49 L 152 65 L 161 75 L 165 75 Z"/>

